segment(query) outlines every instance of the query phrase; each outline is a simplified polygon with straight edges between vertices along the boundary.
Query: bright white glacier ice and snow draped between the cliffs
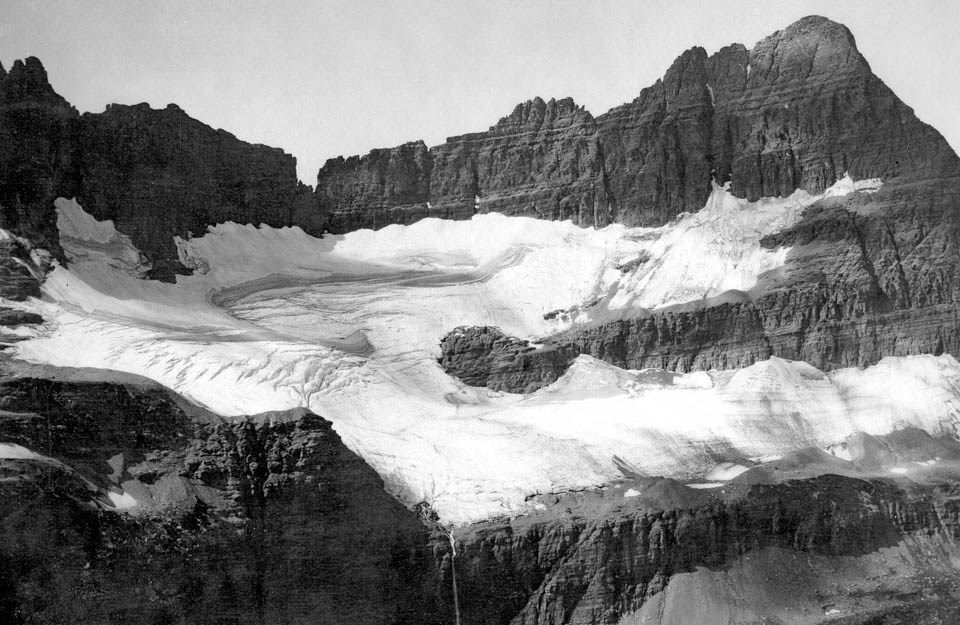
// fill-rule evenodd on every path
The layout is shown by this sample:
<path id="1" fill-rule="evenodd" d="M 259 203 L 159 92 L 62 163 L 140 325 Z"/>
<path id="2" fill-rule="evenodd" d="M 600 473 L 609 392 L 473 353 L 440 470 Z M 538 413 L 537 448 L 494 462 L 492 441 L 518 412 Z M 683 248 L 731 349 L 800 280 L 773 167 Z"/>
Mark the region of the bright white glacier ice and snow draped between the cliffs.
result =
<path id="1" fill-rule="evenodd" d="M 869 190 L 862 184 L 845 179 L 828 193 Z M 614 314 L 604 306 L 617 298 L 656 307 L 747 289 L 783 262 L 783 250 L 759 248 L 762 233 L 793 223 L 810 200 L 745 204 L 717 187 L 703 212 L 657 229 L 485 214 L 321 240 L 228 223 L 178 241 L 197 272 L 176 284 L 134 277 L 105 244 L 75 253 L 122 239 L 62 200 L 74 262 L 27 304 L 49 321 L 16 349 L 32 362 L 143 375 L 225 416 L 309 407 L 389 492 L 429 501 L 449 523 L 522 512 L 528 494 L 607 483 L 624 464 L 722 482 L 742 467 L 718 467 L 718 455 L 778 456 L 907 425 L 953 433 L 960 363 L 950 356 L 830 374 L 771 358 L 682 375 L 581 356 L 527 396 L 464 386 L 436 363 L 440 338 L 459 325 L 531 338 Z M 649 260 L 618 269 L 641 253 Z M 606 303 L 588 305 L 596 300 Z M 576 312 L 544 319 L 557 309 Z"/>

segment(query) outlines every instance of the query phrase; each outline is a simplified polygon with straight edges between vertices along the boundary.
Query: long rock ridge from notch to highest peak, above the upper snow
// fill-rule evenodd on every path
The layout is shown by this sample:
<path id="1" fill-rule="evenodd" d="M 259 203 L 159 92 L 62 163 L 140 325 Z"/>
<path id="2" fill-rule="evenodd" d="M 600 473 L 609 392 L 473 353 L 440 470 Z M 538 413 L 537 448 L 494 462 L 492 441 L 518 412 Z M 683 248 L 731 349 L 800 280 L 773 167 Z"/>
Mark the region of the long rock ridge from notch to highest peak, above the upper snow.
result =
<path id="1" fill-rule="evenodd" d="M 570 99 L 537 98 L 486 132 L 429 149 L 331 159 L 317 194 L 337 232 L 476 210 L 652 226 L 700 210 L 713 180 L 756 200 L 819 192 L 845 172 L 957 171 L 946 141 L 873 75 L 850 31 L 807 17 L 752 50 L 692 48 L 596 118 Z"/>

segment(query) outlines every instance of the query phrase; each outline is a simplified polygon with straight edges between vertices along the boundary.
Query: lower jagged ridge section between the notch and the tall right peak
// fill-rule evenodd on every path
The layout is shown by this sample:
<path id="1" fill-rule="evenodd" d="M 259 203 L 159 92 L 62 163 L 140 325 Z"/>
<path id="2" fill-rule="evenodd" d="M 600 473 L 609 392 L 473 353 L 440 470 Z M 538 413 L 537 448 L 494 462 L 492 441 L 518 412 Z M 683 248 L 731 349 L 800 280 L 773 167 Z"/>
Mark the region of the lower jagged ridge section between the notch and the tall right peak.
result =
<path id="1" fill-rule="evenodd" d="M 317 195 L 334 232 L 478 211 L 611 221 L 593 117 L 573 100 L 518 105 L 487 132 L 327 161 Z"/>

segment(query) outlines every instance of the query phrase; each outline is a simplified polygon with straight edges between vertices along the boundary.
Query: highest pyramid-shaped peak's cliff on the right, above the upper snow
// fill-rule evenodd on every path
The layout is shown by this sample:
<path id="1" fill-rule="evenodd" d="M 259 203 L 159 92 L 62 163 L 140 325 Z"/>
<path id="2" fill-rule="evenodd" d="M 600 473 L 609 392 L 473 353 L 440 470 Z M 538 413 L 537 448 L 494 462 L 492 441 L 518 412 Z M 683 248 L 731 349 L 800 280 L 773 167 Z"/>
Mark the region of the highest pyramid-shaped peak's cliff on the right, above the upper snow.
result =
<path id="1" fill-rule="evenodd" d="M 818 193 L 855 179 L 957 174 L 956 156 L 857 50 L 842 25 L 800 20 L 760 41 L 684 53 L 662 81 L 597 118 L 619 220 L 703 207 L 711 179 L 739 197 Z"/>

